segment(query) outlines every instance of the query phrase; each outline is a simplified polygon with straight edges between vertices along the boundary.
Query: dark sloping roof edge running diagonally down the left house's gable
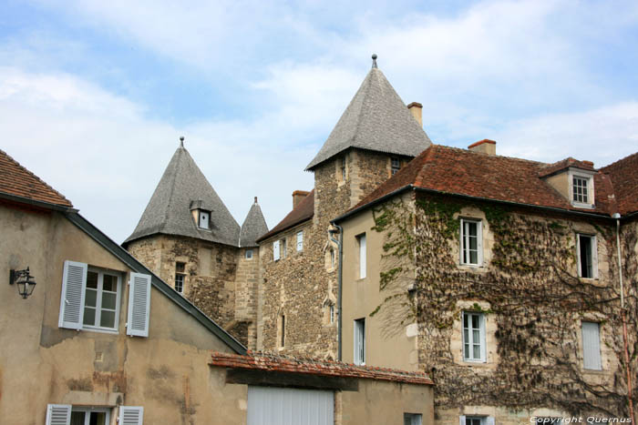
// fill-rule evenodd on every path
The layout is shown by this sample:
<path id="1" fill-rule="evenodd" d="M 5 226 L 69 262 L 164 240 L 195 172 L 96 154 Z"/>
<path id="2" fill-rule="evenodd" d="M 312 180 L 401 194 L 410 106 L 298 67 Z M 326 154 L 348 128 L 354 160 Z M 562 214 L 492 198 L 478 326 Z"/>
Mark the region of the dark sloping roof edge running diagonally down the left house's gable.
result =
<path id="1" fill-rule="evenodd" d="M 113 254 L 116 258 L 129 266 L 132 270 L 138 273 L 144 273 L 150 275 L 151 284 L 153 287 L 160 290 L 162 294 L 172 299 L 181 309 L 184 309 L 194 319 L 199 321 L 206 329 L 209 329 L 211 333 L 226 343 L 231 349 L 238 354 L 246 353 L 247 349 L 234 339 L 231 334 L 222 329 L 213 319 L 206 316 L 201 309 L 198 309 L 188 299 L 182 297 L 175 289 L 171 288 L 166 282 L 156 276 L 149 268 L 146 268 L 139 260 L 133 257 L 129 251 L 120 247 L 113 239 L 108 238 L 101 230 L 93 226 L 86 218 L 80 216 L 76 211 L 67 211 L 65 217 L 80 230 L 85 232 L 89 237 L 93 238 L 100 246 L 107 249 L 108 252 Z"/>

